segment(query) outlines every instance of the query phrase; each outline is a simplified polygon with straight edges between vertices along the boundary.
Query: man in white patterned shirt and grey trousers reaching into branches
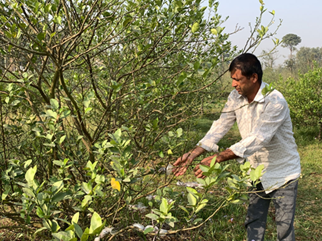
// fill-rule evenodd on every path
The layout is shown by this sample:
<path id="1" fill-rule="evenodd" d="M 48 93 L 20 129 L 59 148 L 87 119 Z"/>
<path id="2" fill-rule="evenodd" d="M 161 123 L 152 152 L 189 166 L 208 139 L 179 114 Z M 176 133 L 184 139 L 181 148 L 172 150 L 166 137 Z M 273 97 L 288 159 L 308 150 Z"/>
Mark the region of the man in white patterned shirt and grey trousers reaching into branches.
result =
<path id="1" fill-rule="evenodd" d="M 198 145 L 174 163 L 173 172 L 182 175 L 195 157 L 204 151 L 218 151 L 218 141 L 235 121 L 242 139 L 225 151 L 204 158 L 201 163 L 247 158 L 252 167 L 264 165 L 264 174 L 256 191 L 251 193 L 245 221 L 249 241 L 264 240 L 267 212 L 270 201 L 275 204 L 275 221 L 279 241 L 294 241 L 294 213 L 298 177 L 301 167 L 297 145 L 293 138 L 289 108 L 283 95 L 273 90 L 262 95 L 260 61 L 250 53 L 236 57 L 230 64 L 233 90 L 217 121 Z M 194 168 L 197 177 L 203 177 L 199 164 Z"/>

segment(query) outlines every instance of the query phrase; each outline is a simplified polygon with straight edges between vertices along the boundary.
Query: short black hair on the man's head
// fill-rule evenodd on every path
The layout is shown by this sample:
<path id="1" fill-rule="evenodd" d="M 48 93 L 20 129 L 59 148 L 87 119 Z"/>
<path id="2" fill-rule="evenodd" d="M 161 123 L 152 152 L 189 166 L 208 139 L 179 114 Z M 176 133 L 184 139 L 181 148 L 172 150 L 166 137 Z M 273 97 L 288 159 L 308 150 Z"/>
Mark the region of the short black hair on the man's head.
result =
<path id="1" fill-rule="evenodd" d="M 244 53 L 232 60 L 229 71 L 235 71 L 235 69 L 240 69 L 243 76 L 250 78 L 252 74 L 256 73 L 258 76 L 258 82 L 261 84 L 263 70 L 261 68 L 260 61 L 258 58 L 251 53 Z"/>

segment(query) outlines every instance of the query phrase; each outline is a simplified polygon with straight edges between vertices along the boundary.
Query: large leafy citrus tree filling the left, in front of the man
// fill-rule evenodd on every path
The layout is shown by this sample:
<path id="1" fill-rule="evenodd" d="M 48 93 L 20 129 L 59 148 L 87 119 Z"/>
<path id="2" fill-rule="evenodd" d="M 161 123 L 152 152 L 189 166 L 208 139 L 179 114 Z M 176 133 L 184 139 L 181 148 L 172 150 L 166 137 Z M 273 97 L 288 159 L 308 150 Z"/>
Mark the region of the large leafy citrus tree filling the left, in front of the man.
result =
<path id="1" fill-rule="evenodd" d="M 274 34 L 273 18 L 261 25 L 260 2 L 244 51 Z M 118 234 L 133 228 L 141 216 L 124 217 L 158 192 L 157 217 L 147 219 L 174 227 L 169 211 L 180 208 L 163 198 L 180 197 L 162 189 L 173 177 L 159 170 L 184 152 L 185 121 L 216 101 L 223 66 L 238 53 L 218 4 L 0 1 L 1 215 L 44 239 L 87 240 L 115 223 Z M 239 200 L 246 179 L 231 177 L 225 201 Z M 180 206 L 190 217 L 206 201 L 187 191 Z"/>

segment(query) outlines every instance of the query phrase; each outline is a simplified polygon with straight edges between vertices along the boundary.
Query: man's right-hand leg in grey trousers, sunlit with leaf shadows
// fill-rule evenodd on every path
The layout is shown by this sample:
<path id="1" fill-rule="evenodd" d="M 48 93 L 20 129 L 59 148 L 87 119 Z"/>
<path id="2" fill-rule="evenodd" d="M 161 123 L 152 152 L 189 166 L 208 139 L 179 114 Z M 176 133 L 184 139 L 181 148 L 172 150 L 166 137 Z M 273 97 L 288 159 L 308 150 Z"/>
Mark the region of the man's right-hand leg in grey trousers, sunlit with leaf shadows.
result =
<path id="1" fill-rule="evenodd" d="M 277 189 L 273 194 L 277 240 L 295 241 L 294 214 L 298 180 L 292 180 Z"/>

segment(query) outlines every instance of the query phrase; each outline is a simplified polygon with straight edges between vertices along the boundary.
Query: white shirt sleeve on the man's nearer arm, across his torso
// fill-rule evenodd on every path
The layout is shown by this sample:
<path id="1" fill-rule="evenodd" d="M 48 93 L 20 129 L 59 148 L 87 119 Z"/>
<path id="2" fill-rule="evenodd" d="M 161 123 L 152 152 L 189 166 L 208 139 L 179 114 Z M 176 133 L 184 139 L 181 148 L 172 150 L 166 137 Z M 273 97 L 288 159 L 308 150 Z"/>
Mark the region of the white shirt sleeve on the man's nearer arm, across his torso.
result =
<path id="1" fill-rule="evenodd" d="M 229 149 L 242 158 L 251 156 L 270 142 L 288 114 L 289 108 L 285 100 L 270 101 L 260 115 L 253 131 Z"/>

